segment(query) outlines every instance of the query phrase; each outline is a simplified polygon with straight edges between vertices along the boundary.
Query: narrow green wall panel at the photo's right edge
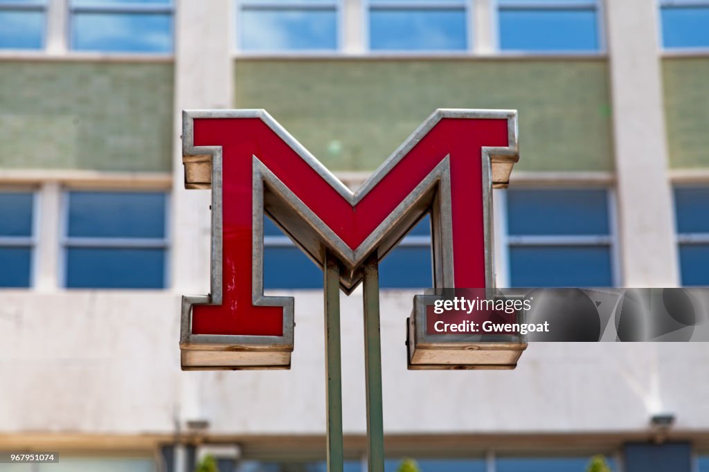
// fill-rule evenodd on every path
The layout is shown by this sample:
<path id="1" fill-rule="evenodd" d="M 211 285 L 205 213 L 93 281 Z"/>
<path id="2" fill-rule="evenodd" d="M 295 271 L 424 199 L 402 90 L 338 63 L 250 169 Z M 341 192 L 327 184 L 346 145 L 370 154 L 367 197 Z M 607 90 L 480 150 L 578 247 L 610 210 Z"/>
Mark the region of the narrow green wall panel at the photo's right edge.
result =
<path id="1" fill-rule="evenodd" d="M 666 57 L 662 74 L 671 167 L 709 167 L 709 57 Z"/>

